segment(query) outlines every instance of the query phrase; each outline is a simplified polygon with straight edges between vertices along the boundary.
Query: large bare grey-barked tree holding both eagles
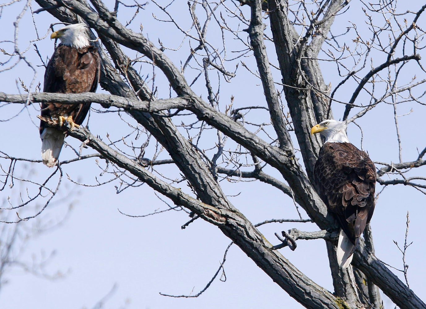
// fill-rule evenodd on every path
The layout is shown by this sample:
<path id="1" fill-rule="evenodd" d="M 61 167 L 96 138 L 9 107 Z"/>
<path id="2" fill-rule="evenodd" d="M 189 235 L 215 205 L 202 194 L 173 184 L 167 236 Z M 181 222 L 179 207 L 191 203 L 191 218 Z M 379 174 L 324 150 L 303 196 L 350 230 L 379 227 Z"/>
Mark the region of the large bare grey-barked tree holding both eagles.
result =
<path id="1" fill-rule="evenodd" d="M 376 258 L 369 229 L 355 252 L 354 272 L 337 266 L 334 219 L 311 184 L 321 141 L 310 135 L 317 122 L 333 118 L 332 112 L 334 117 L 356 125 L 393 123 L 399 162 L 372 158 L 378 167 L 376 191 L 380 194 L 387 186 L 403 184 L 410 187 L 406 190 L 426 194 L 426 178 L 419 176 L 426 164 L 424 141 L 416 145 L 423 149 L 418 156 L 403 160 L 397 113 L 400 104 L 425 104 L 422 86 L 426 79 L 417 78 L 413 72 L 419 76 L 425 73 L 420 57 L 425 31 L 420 24 L 424 23 L 426 5 L 407 10 L 398 8 L 395 1 L 361 1 L 353 5 L 360 6 L 363 16 L 354 17 L 351 1 L 342 0 L 36 2 L 41 9 L 26 6 L 24 11 L 46 18 L 51 14 L 62 23 L 84 22 L 94 30 L 92 38 L 99 39 L 102 59 L 100 83 L 108 93 L 40 93 L 35 75 L 29 82 L 21 81 L 22 93 L 0 93 L 4 102 L 1 108 L 12 108 L 12 114 L 27 110 L 35 119 L 37 102 L 94 102 L 98 104 L 92 105 L 92 113 L 113 113 L 115 120 L 108 130 L 94 132 L 81 127 L 69 132 L 81 141 L 80 147 L 72 148 L 74 157 L 63 160 L 42 181 L 28 179 L 28 194 L 3 209 L 17 213 L 35 201 L 43 201 L 43 206 L 4 222 L 19 224 L 41 215 L 60 192 L 66 168 L 89 161 L 101 171 L 96 185 L 115 182 L 118 193 L 132 188 L 135 194 L 138 187 L 149 186 L 171 201 L 167 210 L 188 213 L 190 221 L 183 227 L 196 219 L 219 227 L 306 308 L 382 308 L 379 289 L 400 308 L 426 308 Z M 3 7 L 9 5 L 14 3 Z M 175 16 L 173 9 L 182 5 L 187 6 L 184 18 Z M 161 13 L 153 15 L 153 20 L 175 31 L 174 39 L 179 40 L 167 42 L 164 29 L 155 34 L 157 42 L 150 40 L 152 33 L 144 33 L 146 21 L 140 16 L 153 8 Z M 133 14 L 126 20 L 129 11 Z M 334 26 L 336 20 L 346 20 L 345 16 L 354 19 L 349 26 Z M 19 26 L 18 17 L 16 33 Z M 40 31 L 36 23 L 34 27 Z M 42 37 L 37 32 L 36 40 Z M 37 53 L 41 61 L 46 55 L 35 46 L 32 51 L 20 50 L 13 41 L 5 44 L 3 71 L 13 70 L 10 64 L 16 61 L 37 72 L 29 54 Z M 325 82 L 324 76 L 331 75 L 335 85 Z M 241 102 L 241 95 L 233 89 L 262 99 Z M 386 106 L 394 111 L 390 118 L 380 114 L 380 108 Z M 127 133 L 111 137 L 108 131 L 118 127 Z M 94 151 L 84 154 L 85 147 Z M 0 150 L 3 191 L 22 164 L 41 161 L 12 156 L 6 147 Z M 298 211 L 302 209 L 299 218 L 256 225 L 239 211 L 238 204 L 231 203 L 223 180 L 227 184 L 246 180 L 270 184 L 288 196 Z M 303 211 L 308 218 L 303 218 Z M 256 227 L 283 221 L 311 221 L 321 231 L 291 230 L 282 232 L 282 237 L 279 231 L 279 240 L 268 241 Z M 326 240 L 334 293 L 285 258 L 285 247 L 295 249 L 296 240 L 301 238 Z M 271 245 L 274 242 L 276 246 Z M 404 274 L 405 266 L 404 260 Z"/>

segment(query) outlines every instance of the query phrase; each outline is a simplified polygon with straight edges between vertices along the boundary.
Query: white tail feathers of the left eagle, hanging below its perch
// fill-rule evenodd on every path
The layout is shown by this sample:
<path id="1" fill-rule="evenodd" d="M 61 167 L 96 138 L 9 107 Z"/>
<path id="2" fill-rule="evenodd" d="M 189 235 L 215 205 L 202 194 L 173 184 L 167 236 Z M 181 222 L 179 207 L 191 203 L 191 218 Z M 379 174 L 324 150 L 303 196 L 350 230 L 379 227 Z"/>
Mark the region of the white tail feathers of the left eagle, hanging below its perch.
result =
<path id="1" fill-rule="evenodd" d="M 41 159 L 48 167 L 53 167 L 58 161 L 60 150 L 62 149 L 65 133 L 54 128 L 45 128 L 40 134 L 41 138 Z"/>

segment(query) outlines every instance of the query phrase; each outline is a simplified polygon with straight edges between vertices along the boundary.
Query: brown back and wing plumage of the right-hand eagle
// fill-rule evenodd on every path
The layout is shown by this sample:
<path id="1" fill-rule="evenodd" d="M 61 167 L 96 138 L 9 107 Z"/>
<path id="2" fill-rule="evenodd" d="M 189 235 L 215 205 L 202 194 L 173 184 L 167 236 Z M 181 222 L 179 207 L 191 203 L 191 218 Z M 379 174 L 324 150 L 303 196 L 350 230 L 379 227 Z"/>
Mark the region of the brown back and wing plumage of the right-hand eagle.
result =
<path id="1" fill-rule="evenodd" d="M 320 197 L 356 247 L 374 211 L 374 163 L 350 143 L 328 142 L 321 147 L 314 177 Z"/>

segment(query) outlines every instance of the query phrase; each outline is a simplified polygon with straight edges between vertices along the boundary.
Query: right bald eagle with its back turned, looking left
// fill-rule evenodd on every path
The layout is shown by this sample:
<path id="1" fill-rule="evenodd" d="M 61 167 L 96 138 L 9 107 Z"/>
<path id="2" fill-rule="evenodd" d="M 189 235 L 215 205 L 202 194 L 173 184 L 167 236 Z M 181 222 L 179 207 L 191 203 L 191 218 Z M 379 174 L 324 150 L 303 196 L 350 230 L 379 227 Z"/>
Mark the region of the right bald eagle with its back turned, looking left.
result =
<path id="1" fill-rule="evenodd" d="M 346 122 L 328 119 L 315 125 L 311 134 L 325 137 L 314 168 L 317 190 L 341 227 L 337 261 L 346 268 L 360 235 L 374 211 L 376 167 L 367 153 L 352 145 Z"/>

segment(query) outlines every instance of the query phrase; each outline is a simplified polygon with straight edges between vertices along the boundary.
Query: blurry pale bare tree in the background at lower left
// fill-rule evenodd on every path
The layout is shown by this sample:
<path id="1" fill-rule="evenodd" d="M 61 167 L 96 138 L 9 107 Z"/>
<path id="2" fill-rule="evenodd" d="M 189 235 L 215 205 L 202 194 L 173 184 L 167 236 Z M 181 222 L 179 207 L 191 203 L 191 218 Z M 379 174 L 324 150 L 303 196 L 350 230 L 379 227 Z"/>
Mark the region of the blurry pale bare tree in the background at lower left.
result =
<path id="1" fill-rule="evenodd" d="M 22 171 L 14 172 L 14 179 L 12 180 L 11 196 L 3 198 L 1 201 L 1 221 L 10 221 L 16 218 L 17 213 L 11 212 L 13 204 L 19 204 L 22 201 L 22 196 L 26 195 L 26 182 L 28 179 L 34 178 L 36 170 L 28 168 L 23 172 L 23 175 L 18 177 L 18 174 Z M 66 186 L 69 187 L 69 186 Z M 64 188 L 65 189 L 65 188 Z M 69 190 L 69 188 L 67 188 Z M 62 193 L 66 193 L 67 189 L 62 190 Z M 27 250 L 27 245 L 34 238 L 40 237 L 40 235 L 46 232 L 52 232 L 62 226 L 69 216 L 72 209 L 72 204 L 75 202 L 69 200 L 63 196 L 62 193 L 57 195 L 57 200 L 50 203 L 51 207 L 55 205 L 67 205 L 68 207 L 61 207 L 57 215 L 54 217 L 51 215 L 39 216 L 31 222 L 25 222 L 23 220 L 15 224 L 2 224 L 0 228 L 0 292 L 3 292 L 3 287 L 9 283 L 9 273 L 19 271 L 21 273 L 29 273 L 39 278 L 47 280 L 58 280 L 65 278 L 67 270 L 56 269 L 52 272 L 50 269 L 50 262 L 55 257 L 55 250 L 46 252 L 43 249 L 37 252 L 32 252 L 32 259 L 28 260 L 24 257 Z M 20 198 L 19 198 L 20 197 Z M 17 201 L 14 201 L 17 199 Z M 37 203 L 31 203 L 26 206 L 29 212 L 37 212 Z M 7 211 L 5 211 L 7 210 Z M 19 215 L 18 215 L 19 216 Z M 13 218 L 12 218 L 13 217 Z"/>

